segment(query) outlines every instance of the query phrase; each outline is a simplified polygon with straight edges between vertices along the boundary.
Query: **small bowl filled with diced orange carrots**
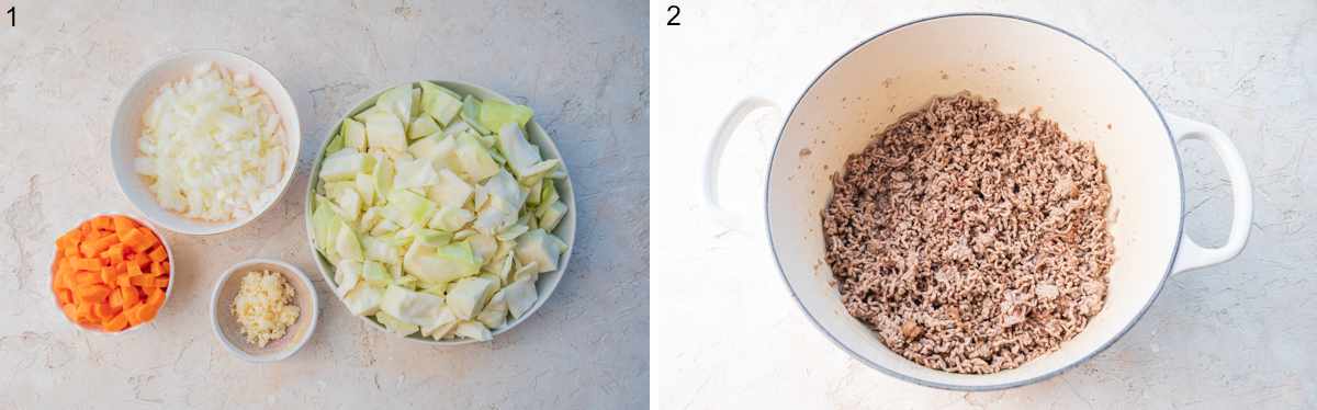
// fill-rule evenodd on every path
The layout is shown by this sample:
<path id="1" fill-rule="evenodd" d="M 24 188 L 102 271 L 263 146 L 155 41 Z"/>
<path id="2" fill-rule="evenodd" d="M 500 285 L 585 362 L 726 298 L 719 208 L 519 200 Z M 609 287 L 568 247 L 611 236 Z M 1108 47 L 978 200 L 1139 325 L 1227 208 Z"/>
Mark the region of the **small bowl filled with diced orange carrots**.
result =
<path id="1" fill-rule="evenodd" d="M 126 332 L 149 323 L 169 300 L 174 252 L 150 223 L 99 214 L 55 239 L 50 289 L 79 329 Z"/>

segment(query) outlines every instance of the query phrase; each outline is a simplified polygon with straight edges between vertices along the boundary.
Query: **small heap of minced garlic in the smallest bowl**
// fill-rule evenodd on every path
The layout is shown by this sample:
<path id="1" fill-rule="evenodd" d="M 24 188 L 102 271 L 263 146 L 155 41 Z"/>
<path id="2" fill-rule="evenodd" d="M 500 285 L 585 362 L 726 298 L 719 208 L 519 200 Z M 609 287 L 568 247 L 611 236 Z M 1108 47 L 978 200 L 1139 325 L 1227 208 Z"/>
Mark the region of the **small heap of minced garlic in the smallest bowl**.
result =
<path id="1" fill-rule="evenodd" d="M 253 271 L 242 276 L 242 288 L 233 297 L 233 317 L 242 325 L 248 343 L 265 347 L 283 338 L 300 313 L 292 305 L 292 286 L 277 272 Z"/>

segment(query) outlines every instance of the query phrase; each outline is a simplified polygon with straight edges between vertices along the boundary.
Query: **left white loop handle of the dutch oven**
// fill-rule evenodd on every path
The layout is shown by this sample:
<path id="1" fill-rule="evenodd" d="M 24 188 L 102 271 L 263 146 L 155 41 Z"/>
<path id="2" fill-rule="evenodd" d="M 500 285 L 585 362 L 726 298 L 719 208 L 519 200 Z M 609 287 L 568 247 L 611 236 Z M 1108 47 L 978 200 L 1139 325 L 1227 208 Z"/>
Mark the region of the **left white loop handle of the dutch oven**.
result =
<path id="1" fill-rule="evenodd" d="M 714 139 L 709 142 L 709 148 L 705 151 L 705 170 L 702 172 L 702 196 L 705 202 L 705 209 L 709 212 L 714 223 L 720 227 L 732 231 L 748 233 L 748 226 L 744 218 L 735 213 L 723 209 L 722 204 L 718 202 L 718 172 L 722 167 L 723 154 L 727 151 L 727 142 L 731 139 L 732 133 L 735 133 L 745 122 L 745 117 L 751 113 L 772 108 L 781 113 L 777 102 L 769 101 L 764 97 L 745 97 L 732 108 L 731 113 L 723 117 L 722 125 L 718 126 L 718 133 L 714 134 Z"/>

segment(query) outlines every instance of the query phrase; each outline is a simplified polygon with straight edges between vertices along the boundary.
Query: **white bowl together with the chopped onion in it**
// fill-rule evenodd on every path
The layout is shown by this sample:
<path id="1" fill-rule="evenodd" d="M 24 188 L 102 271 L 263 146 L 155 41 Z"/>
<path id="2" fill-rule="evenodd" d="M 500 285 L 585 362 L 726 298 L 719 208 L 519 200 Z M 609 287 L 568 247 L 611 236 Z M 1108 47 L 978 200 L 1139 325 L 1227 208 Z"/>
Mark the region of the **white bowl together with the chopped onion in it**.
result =
<path id="1" fill-rule="evenodd" d="M 128 88 L 109 151 L 120 189 L 146 219 L 209 235 L 270 209 L 300 147 L 296 105 L 269 70 L 199 50 L 157 62 Z"/>

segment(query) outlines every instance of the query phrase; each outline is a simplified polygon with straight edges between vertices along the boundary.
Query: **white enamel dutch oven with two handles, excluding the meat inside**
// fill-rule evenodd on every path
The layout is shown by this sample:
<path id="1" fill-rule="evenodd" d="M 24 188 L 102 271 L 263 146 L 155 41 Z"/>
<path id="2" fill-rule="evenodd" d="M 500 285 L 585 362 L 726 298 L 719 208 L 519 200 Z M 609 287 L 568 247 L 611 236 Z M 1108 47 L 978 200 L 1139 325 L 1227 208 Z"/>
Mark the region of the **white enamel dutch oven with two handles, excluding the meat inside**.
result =
<path id="1" fill-rule="evenodd" d="M 823 263 L 820 210 L 830 176 L 871 135 L 932 96 L 960 91 L 994 97 L 1004 112 L 1043 108 L 1071 138 L 1092 141 L 1112 185 L 1115 240 L 1106 305 L 1056 352 L 993 375 L 934 371 L 888 350 L 847 314 Z M 716 202 L 716 172 L 727 137 L 764 99 L 743 101 L 709 150 L 705 196 Z M 1184 235 L 1184 185 L 1176 145 L 1210 143 L 1234 200 L 1226 244 L 1208 248 Z M 826 142 L 826 143 L 824 143 Z M 766 229 L 782 277 L 805 313 L 830 339 L 865 364 L 922 385 L 989 390 L 1019 386 L 1065 371 L 1110 346 L 1156 298 L 1169 275 L 1229 260 L 1243 250 L 1252 193 L 1243 159 L 1210 125 L 1158 109 L 1109 55 L 1043 22 L 1000 14 L 951 14 L 905 24 L 857 45 L 805 91 L 788 114 L 768 168 Z"/>

